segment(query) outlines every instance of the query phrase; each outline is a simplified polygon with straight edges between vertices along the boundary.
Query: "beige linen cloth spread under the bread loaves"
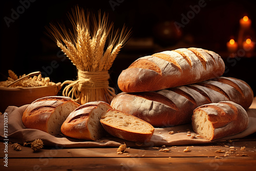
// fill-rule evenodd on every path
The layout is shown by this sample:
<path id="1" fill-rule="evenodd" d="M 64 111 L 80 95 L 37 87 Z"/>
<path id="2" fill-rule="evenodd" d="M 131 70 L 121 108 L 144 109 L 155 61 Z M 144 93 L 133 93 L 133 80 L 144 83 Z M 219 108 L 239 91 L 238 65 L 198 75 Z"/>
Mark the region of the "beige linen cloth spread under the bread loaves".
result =
<path id="1" fill-rule="evenodd" d="M 30 142 L 35 139 L 41 139 L 44 141 L 45 145 L 49 146 L 62 146 L 62 147 L 101 147 L 101 146 L 119 146 L 120 144 L 126 143 L 129 147 L 135 146 L 173 146 L 173 145 L 188 145 L 188 144 L 204 144 L 212 143 L 220 140 L 230 140 L 230 139 L 239 139 L 246 137 L 254 132 L 256 132 L 256 109 L 248 109 L 247 113 L 249 116 L 249 125 L 247 129 L 237 135 L 232 135 L 224 137 L 222 139 L 209 141 L 203 138 L 194 138 L 191 139 L 187 136 L 187 130 L 189 129 L 192 134 L 195 136 L 196 133 L 193 132 L 191 123 L 165 127 L 165 128 L 156 128 L 154 135 L 150 142 L 138 144 L 131 141 L 126 141 L 123 139 L 115 138 L 110 135 L 106 135 L 98 141 L 86 141 L 78 140 L 74 138 L 69 138 L 63 135 L 52 136 L 48 133 L 42 132 L 40 130 L 26 129 L 22 123 L 22 115 L 26 110 L 28 105 L 23 105 L 20 107 L 9 106 L 5 113 L 7 115 L 0 116 L 0 135 L 2 141 L 18 142 L 23 144 L 24 142 Z M 4 117 L 8 119 L 4 120 Z M 4 127 L 4 123 L 8 124 L 8 127 Z M 5 125 L 7 125 L 5 124 Z M 5 130 L 4 130 L 5 128 Z M 7 133 L 8 137 L 5 137 L 4 131 Z M 168 134 L 170 131 L 174 131 L 174 134 Z M 6 140 L 7 139 L 7 140 Z"/>

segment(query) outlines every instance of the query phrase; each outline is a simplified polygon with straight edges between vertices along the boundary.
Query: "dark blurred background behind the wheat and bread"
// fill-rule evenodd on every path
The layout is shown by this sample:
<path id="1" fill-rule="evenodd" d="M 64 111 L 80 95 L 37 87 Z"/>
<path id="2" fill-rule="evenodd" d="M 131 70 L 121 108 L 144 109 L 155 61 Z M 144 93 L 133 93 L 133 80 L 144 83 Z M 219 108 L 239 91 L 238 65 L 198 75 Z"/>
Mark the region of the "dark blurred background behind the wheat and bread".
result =
<path id="1" fill-rule="evenodd" d="M 22 0 L 21 2 L 28 2 Z M 1 4 L 1 65 L 0 80 L 6 80 L 8 70 L 17 75 L 41 71 L 53 82 L 75 80 L 76 68 L 62 55 L 55 42 L 46 35 L 49 23 L 62 21 L 69 25 L 67 13 L 75 5 L 97 13 L 98 10 L 109 14 L 109 20 L 115 28 L 123 24 L 132 28 L 133 34 L 126 46 L 120 51 L 111 74 L 110 86 L 120 92 L 117 78 L 135 59 L 163 50 L 200 47 L 219 53 L 225 63 L 224 76 L 243 79 L 254 91 L 255 55 L 252 57 L 229 58 L 226 42 L 237 39 L 239 19 L 244 15 L 252 20 L 252 29 L 256 28 L 256 5 L 254 1 L 214 1 L 205 0 L 204 7 L 194 13 L 181 32 L 171 25 L 182 24 L 182 15 L 191 12 L 200 1 L 42 1 L 27 4 L 27 8 L 8 25 L 6 17 L 11 18 L 13 11 L 21 9 L 20 1 L 3 1 Z M 116 3 L 116 4 L 114 4 Z M 184 24 L 184 23 L 183 23 Z M 169 34 L 164 35 L 163 30 Z M 180 35 L 180 36 L 177 36 Z M 252 41 L 255 42 L 254 37 Z M 52 65 L 52 61 L 57 64 Z M 52 65 L 52 66 L 51 66 Z"/>

